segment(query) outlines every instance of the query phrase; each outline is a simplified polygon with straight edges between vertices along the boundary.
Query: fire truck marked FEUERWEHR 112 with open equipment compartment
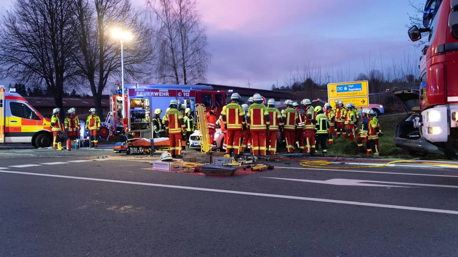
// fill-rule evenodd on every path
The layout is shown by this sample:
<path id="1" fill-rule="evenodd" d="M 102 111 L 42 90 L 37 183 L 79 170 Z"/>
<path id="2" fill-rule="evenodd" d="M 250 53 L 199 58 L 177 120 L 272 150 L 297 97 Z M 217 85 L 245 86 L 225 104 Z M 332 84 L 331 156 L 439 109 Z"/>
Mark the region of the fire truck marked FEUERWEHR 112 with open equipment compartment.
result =
<path id="1" fill-rule="evenodd" d="M 137 138 L 151 138 L 153 135 L 152 117 L 155 109 L 161 109 L 161 118 L 169 107 L 170 100 L 179 103 L 179 109 L 195 111 L 195 105 L 202 103 L 206 111 L 217 107 L 219 117 L 223 106 L 230 99 L 231 92 L 215 91 L 205 85 L 166 85 L 166 84 L 124 84 L 110 92 L 110 112 L 106 122 L 112 136 L 124 131 Z M 194 115 L 195 117 L 195 115 Z"/>

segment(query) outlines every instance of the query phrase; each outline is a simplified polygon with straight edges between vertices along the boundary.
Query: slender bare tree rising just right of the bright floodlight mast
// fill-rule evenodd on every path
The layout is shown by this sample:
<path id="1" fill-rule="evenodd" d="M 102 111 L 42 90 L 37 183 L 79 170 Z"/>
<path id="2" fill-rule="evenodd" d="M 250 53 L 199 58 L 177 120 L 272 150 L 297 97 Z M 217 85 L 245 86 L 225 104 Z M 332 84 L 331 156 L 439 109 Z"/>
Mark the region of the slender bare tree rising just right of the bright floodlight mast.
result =
<path id="1" fill-rule="evenodd" d="M 156 0 L 147 2 L 156 21 L 158 79 L 163 83 L 195 84 L 206 81 L 212 55 L 206 50 L 206 28 L 196 8 L 196 0 Z"/>

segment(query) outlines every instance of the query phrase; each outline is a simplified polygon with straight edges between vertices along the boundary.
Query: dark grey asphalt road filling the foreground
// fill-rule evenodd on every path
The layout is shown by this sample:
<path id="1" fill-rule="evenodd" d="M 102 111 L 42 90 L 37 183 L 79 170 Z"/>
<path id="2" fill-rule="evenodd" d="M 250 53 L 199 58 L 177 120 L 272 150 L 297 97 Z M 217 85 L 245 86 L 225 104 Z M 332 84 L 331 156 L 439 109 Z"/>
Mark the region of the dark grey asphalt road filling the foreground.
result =
<path id="1" fill-rule="evenodd" d="M 150 159 L 0 151 L 0 256 L 458 252 L 456 167 L 282 161 L 273 171 L 219 178 L 145 170 Z"/>

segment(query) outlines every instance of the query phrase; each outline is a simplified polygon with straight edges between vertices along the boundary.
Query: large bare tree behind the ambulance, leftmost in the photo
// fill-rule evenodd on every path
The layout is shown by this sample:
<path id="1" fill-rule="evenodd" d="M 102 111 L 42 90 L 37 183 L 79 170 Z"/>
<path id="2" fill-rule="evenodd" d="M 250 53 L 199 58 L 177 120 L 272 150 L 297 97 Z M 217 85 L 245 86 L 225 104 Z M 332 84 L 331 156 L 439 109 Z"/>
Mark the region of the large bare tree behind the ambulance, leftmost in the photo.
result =
<path id="1" fill-rule="evenodd" d="M 1 76 L 45 86 L 62 113 L 64 85 L 77 75 L 72 7 L 71 0 L 17 0 L 0 27 Z"/>

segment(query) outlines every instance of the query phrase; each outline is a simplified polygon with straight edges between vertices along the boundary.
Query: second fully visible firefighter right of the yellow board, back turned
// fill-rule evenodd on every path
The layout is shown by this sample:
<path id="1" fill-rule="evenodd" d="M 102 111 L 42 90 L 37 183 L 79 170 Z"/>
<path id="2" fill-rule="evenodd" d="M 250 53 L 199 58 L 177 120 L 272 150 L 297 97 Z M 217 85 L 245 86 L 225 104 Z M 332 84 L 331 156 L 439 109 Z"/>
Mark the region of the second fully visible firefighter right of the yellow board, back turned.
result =
<path id="1" fill-rule="evenodd" d="M 250 134 L 251 134 L 251 147 L 253 148 L 253 155 L 258 155 L 258 150 L 260 155 L 266 155 L 266 137 L 267 132 L 269 132 L 269 112 L 267 112 L 267 107 L 262 104 L 264 100 L 261 95 L 256 93 L 253 95 L 254 103 L 248 108 L 248 123 L 250 124 Z"/>

